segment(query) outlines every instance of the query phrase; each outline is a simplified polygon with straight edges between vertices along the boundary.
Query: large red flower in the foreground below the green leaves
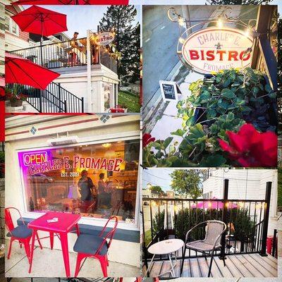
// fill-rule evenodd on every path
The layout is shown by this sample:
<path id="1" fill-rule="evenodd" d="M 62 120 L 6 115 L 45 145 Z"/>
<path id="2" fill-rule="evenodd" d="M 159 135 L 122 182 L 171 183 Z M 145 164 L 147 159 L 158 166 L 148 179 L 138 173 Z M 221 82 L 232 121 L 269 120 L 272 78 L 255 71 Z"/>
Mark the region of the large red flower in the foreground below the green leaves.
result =
<path id="1" fill-rule="evenodd" d="M 244 124 L 238 133 L 226 131 L 229 143 L 219 139 L 223 151 L 245 167 L 277 166 L 277 135 L 259 133 L 252 124 Z"/>

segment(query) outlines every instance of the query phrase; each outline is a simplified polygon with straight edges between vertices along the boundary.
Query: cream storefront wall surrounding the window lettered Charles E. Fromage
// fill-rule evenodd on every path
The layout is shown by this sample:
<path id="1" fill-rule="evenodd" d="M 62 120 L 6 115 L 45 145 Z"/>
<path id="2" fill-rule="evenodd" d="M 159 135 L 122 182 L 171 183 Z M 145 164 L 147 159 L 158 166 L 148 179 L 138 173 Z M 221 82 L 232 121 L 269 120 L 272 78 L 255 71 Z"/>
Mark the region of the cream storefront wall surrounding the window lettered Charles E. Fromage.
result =
<path id="1" fill-rule="evenodd" d="M 28 149 L 47 148 L 47 140 L 55 135 L 76 135 L 80 142 L 76 145 L 114 142 L 117 140 L 140 139 L 140 116 L 118 116 L 110 118 L 106 123 L 99 120 L 100 116 L 20 116 L 8 118 L 6 121 L 6 207 L 17 207 L 23 217 L 37 218 L 40 214 L 27 212 L 23 181 L 20 176 L 18 152 Z M 95 121 L 94 119 L 97 118 Z M 78 123 L 79 122 L 79 123 Z M 59 125 L 54 127 L 54 125 Z M 30 128 L 37 128 L 32 135 Z M 43 129 L 43 128 L 49 129 Z M 75 145 L 75 146 L 76 146 Z M 63 147 L 68 147 L 64 145 Z M 135 223 L 118 223 L 118 228 L 125 230 L 140 230 L 140 184 L 137 183 L 137 200 L 135 209 Z M 18 216 L 13 218 L 14 221 Z M 82 218 L 80 224 L 104 226 L 106 219 Z M 39 237 L 49 235 L 40 232 Z M 77 236 L 69 233 L 69 251 L 73 252 L 73 245 Z M 42 240 L 44 247 L 49 247 L 49 240 Z M 61 250 L 59 240 L 55 240 L 54 247 Z M 123 250 L 123 255 L 121 255 Z M 140 266 L 140 244 L 123 240 L 113 240 L 109 250 L 109 260 L 133 266 Z"/>

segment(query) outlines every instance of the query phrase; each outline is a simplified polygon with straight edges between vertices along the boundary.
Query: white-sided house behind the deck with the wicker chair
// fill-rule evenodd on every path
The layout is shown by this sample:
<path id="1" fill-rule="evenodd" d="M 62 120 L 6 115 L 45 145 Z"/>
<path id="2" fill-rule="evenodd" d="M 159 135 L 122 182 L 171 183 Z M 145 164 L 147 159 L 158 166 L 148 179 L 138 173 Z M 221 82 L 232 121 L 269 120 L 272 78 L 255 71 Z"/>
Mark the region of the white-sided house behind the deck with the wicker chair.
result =
<path id="1" fill-rule="evenodd" d="M 204 171 L 204 199 L 222 199 L 224 179 L 229 179 L 228 199 L 237 200 L 264 200 L 266 182 L 272 183 L 268 233 L 273 235 L 280 222 L 277 212 L 277 170 L 209 168 Z"/>

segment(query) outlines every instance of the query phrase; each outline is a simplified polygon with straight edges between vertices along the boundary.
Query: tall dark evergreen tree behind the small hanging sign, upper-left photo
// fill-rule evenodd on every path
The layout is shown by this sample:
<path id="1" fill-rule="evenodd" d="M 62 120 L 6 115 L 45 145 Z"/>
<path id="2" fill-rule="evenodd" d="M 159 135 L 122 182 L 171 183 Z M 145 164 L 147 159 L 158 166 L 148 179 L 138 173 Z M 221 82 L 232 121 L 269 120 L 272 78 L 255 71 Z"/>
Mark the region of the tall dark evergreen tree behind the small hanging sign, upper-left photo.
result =
<path id="1" fill-rule="evenodd" d="M 114 28 L 116 32 L 116 50 L 121 52 L 118 77 L 123 82 L 135 82 L 140 78 L 140 24 L 133 26 L 136 15 L 133 5 L 109 6 L 99 22 L 101 31 Z"/>

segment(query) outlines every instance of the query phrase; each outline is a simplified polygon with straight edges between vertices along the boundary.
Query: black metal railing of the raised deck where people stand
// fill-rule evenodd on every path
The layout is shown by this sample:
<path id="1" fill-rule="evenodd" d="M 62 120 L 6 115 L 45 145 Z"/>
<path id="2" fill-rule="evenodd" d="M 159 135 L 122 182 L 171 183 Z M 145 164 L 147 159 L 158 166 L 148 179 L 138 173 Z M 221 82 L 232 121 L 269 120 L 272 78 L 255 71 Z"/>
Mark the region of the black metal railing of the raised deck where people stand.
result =
<path id="1" fill-rule="evenodd" d="M 87 65 L 86 37 L 77 39 L 77 47 L 73 47 L 73 40 L 66 40 L 42 45 L 42 59 L 40 46 L 10 51 L 11 54 L 29 59 L 45 68 L 66 68 Z M 98 50 L 90 47 L 91 63 L 102 65 L 117 73 L 117 62 L 103 47 Z M 99 52 L 99 54 L 97 54 Z"/>

